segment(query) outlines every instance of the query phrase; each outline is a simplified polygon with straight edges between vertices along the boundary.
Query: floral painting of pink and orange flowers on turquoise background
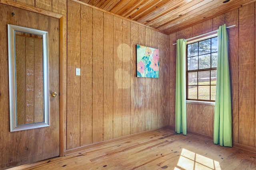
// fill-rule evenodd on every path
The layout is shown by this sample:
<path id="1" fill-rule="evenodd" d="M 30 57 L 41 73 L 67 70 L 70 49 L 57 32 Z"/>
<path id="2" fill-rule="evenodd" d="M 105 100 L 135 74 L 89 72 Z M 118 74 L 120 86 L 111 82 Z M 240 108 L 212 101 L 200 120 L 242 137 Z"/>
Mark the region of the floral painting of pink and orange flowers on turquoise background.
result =
<path id="1" fill-rule="evenodd" d="M 159 49 L 136 45 L 137 77 L 159 77 Z"/>

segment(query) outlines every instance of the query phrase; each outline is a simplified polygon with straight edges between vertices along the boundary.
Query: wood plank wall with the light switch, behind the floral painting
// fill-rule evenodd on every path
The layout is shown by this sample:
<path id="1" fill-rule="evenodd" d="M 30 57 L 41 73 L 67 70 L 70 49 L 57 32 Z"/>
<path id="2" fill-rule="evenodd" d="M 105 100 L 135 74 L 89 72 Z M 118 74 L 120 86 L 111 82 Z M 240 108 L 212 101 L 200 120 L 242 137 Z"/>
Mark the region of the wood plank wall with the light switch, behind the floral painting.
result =
<path id="1" fill-rule="evenodd" d="M 67 150 L 169 125 L 169 37 L 68 0 Z M 160 49 L 160 77 L 136 77 L 136 44 Z M 81 76 L 76 76 L 81 68 Z"/>

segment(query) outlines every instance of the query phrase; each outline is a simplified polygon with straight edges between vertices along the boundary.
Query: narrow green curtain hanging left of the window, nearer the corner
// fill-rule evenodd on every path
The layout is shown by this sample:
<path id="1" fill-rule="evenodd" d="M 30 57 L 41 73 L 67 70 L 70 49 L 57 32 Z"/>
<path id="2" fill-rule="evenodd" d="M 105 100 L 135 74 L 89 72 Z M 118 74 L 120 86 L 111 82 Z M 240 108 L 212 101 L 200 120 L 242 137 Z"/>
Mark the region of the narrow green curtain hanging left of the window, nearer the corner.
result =
<path id="1" fill-rule="evenodd" d="M 178 39 L 176 49 L 175 131 L 187 135 L 186 41 Z"/>

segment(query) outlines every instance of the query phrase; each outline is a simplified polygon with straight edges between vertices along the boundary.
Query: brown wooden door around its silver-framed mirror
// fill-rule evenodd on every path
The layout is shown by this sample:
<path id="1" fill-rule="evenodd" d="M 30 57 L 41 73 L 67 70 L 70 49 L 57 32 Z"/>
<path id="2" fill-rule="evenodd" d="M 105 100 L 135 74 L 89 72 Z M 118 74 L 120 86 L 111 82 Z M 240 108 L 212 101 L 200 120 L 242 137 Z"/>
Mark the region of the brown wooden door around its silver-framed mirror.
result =
<path id="1" fill-rule="evenodd" d="M 4 4 L 0 14 L 0 169 L 6 169 L 60 154 L 59 95 L 51 95 L 59 94 L 59 20 Z M 7 24 L 48 31 L 49 127 L 10 132 Z"/>

